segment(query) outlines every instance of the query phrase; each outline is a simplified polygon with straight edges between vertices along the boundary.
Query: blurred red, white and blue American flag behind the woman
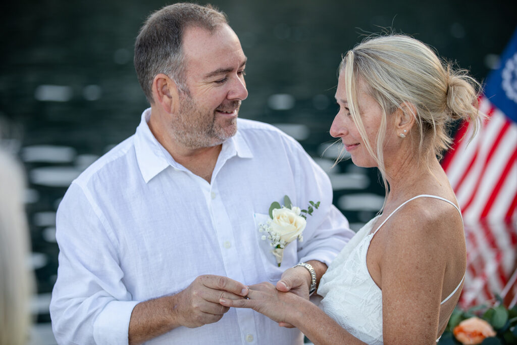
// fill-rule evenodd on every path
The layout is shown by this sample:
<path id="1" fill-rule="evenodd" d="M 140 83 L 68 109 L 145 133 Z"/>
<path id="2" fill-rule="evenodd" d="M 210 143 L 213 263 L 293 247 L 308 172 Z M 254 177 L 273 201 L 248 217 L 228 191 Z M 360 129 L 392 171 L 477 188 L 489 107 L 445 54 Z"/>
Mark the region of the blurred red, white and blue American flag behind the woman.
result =
<path id="1" fill-rule="evenodd" d="M 462 124 L 442 161 L 462 209 L 467 272 L 462 307 L 517 301 L 517 30 L 484 85 L 487 115 L 470 142 Z M 463 139 L 463 140 L 462 140 Z"/>

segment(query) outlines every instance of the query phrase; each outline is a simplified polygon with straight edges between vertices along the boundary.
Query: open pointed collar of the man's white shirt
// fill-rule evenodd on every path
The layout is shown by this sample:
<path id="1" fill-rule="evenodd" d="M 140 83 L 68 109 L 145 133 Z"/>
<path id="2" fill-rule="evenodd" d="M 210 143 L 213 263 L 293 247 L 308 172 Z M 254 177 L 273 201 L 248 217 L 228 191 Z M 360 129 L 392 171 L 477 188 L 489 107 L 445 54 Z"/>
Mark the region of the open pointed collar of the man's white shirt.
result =
<path id="1" fill-rule="evenodd" d="M 136 128 L 135 133 L 135 153 L 136 161 L 142 173 L 145 183 L 148 183 L 153 177 L 172 166 L 174 169 L 185 170 L 181 164 L 177 163 L 165 148 L 156 140 L 155 136 L 149 129 L 147 122 L 151 116 L 151 108 L 144 110 L 140 125 Z M 237 119 L 237 123 L 240 120 Z M 238 156 L 240 158 L 253 158 L 251 149 L 242 137 L 239 131 L 232 138 L 226 140 L 221 148 L 220 158 L 224 161 Z"/>

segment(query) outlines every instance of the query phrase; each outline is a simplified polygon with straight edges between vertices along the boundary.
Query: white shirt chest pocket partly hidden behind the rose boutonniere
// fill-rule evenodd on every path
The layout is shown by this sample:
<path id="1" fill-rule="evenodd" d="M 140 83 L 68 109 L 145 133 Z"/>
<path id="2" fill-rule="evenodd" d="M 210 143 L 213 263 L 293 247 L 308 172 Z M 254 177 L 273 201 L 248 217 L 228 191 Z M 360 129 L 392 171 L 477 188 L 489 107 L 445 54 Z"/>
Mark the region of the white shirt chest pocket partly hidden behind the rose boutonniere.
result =
<path id="1" fill-rule="evenodd" d="M 293 267 L 298 263 L 297 240 L 295 239 L 295 241 L 287 244 L 285 248 L 283 248 L 283 256 L 279 266 L 277 262 L 277 256 L 279 253 L 278 251 L 277 255 L 273 253 L 273 250 L 277 248 L 271 245 L 271 239 L 268 238 L 269 233 L 265 230 L 260 231 L 261 225 L 267 226 L 267 222 L 271 218 L 269 218 L 269 215 L 258 213 L 255 213 L 253 218 L 255 220 L 255 229 L 257 229 L 256 242 L 260 249 L 260 256 L 266 276 L 269 281 L 276 282 L 280 280 L 282 273 L 287 268 Z"/>

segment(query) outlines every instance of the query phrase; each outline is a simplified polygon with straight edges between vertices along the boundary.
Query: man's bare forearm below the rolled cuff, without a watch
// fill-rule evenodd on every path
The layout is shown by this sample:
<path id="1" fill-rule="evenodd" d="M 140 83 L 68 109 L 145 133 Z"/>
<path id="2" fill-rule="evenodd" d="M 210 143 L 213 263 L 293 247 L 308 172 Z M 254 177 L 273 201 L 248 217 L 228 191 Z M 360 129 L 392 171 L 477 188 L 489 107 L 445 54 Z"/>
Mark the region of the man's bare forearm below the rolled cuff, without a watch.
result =
<path id="1" fill-rule="evenodd" d="M 176 295 L 137 304 L 129 321 L 129 344 L 141 344 L 180 326 Z"/>

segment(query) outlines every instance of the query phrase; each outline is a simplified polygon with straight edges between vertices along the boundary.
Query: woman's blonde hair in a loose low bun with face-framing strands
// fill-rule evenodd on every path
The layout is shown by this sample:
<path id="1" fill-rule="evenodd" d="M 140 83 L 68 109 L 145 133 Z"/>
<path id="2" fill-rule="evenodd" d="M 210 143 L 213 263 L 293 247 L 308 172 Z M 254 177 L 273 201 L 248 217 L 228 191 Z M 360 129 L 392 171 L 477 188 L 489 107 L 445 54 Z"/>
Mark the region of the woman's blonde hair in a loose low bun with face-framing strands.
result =
<path id="1" fill-rule="evenodd" d="M 411 115 L 418 128 L 419 145 L 415 154 L 419 156 L 433 149 L 438 159 L 441 158 L 452 142 L 448 130 L 455 120 L 472 123 L 475 134 L 484 116 L 478 111 L 479 83 L 466 70 L 454 69 L 451 63 L 440 61 L 428 46 L 406 35 L 367 38 L 346 53 L 339 71 L 345 73 L 352 118 L 378 164 L 386 188 L 383 143 L 387 116 L 399 108 L 407 112 L 403 103 L 414 106 L 415 113 Z M 375 148 L 368 141 L 357 105 L 359 81 L 366 84 L 367 92 L 383 111 Z"/>

